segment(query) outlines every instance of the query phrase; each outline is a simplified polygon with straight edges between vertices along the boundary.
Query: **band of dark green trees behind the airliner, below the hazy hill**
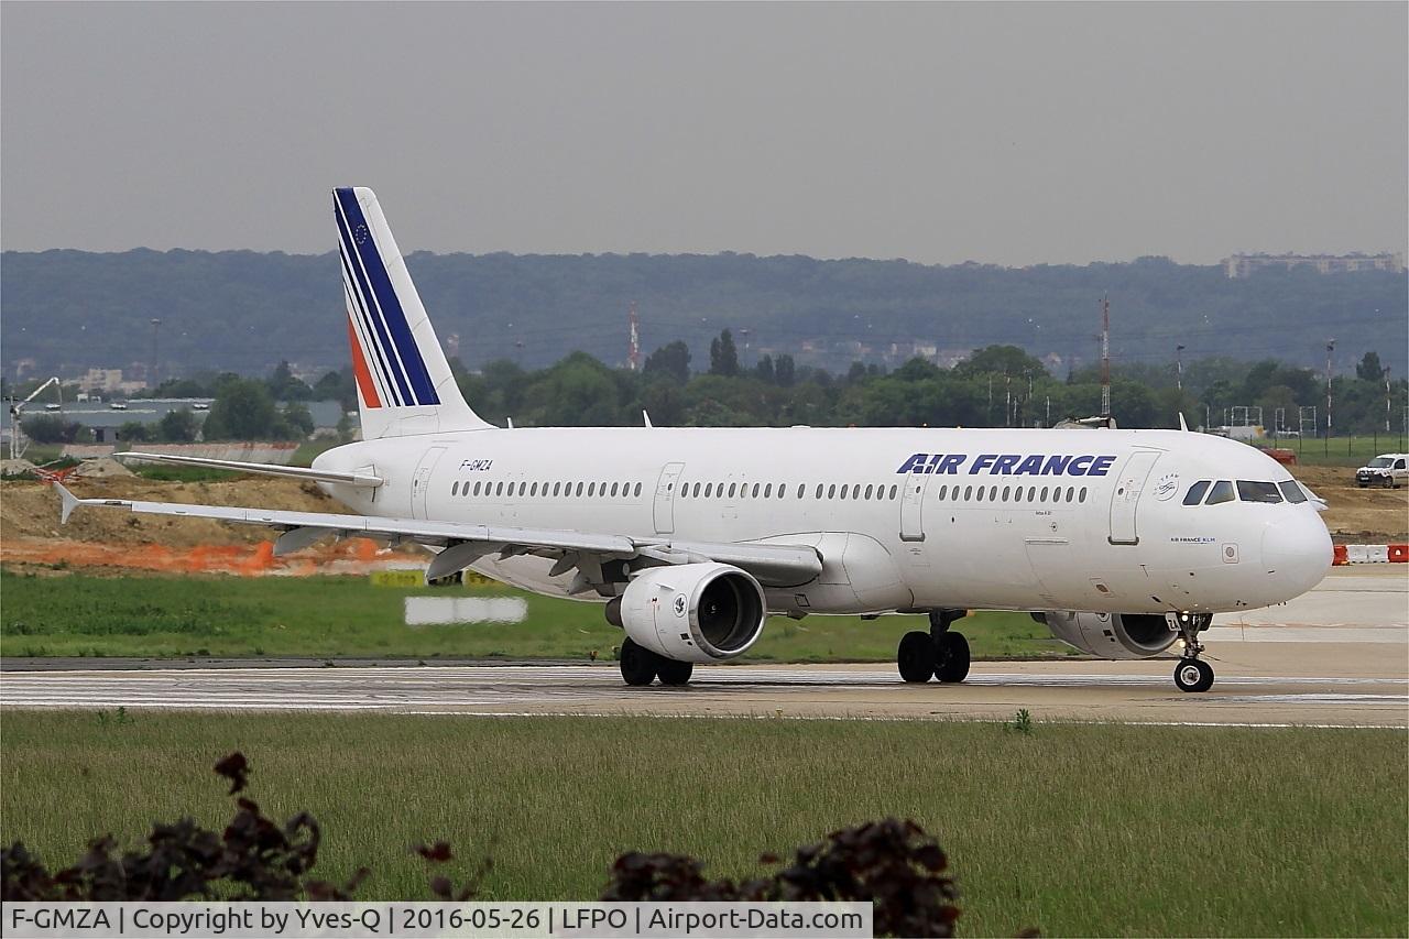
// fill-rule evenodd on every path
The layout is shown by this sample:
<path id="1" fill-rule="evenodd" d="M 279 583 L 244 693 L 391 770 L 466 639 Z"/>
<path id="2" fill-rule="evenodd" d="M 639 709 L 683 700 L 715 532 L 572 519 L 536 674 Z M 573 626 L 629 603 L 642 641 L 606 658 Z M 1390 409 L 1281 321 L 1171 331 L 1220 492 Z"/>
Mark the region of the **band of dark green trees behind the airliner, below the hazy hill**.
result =
<path id="1" fill-rule="evenodd" d="M 679 427 L 1050 427 L 1098 416 L 1102 399 L 1098 368 L 1054 375 L 1016 345 L 988 345 L 952 368 L 914 358 L 893 371 L 858 361 L 833 374 L 797 365 L 786 354 L 745 367 L 733 331 L 723 330 L 710 341 L 707 365 L 700 365 L 696 371 L 679 340 L 647 355 L 640 371 L 612 368 L 581 351 L 542 369 L 500 358 L 469 371 L 451 360 L 471 406 L 492 423 L 511 420 L 519 427 L 638 426 L 644 415 L 657 426 Z M 1354 374 L 1336 375 L 1330 385 L 1336 433 L 1384 430 L 1386 391 L 1391 431 L 1402 433 L 1409 382 L 1391 381 L 1377 351 L 1365 352 Z M 206 440 L 307 436 L 313 430 L 307 400 L 335 399 L 344 412 L 356 409 L 351 368 L 328 371 L 310 385 L 287 362 L 265 378 L 194 374 L 162 382 L 148 396 L 214 398 L 201 431 Z M 1299 431 L 1305 406 L 1316 409 L 1316 431 L 1324 433 L 1324 375 L 1277 360 L 1216 357 L 1179 371 L 1144 364 L 1112 369 L 1112 413 L 1122 427 L 1178 427 L 1182 413 L 1191 427 L 1260 419 L 1268 433 Z M 27 433 L 35 436 L 32 429 L 44 420 L 27 417 Z M 161 424 L 120 437 L 189 440 L 192 424 L 189 412 L 173 412 Z M 349 420 L 342 430 L 351 433 Z"/>

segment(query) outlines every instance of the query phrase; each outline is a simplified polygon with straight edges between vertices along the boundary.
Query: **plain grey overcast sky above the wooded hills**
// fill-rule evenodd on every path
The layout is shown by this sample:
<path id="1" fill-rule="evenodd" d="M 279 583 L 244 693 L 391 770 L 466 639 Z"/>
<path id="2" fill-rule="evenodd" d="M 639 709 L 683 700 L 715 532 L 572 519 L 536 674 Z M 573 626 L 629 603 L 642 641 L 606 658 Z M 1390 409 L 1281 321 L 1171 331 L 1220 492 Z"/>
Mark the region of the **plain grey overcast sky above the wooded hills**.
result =
<path id="1" fill-rule="evenodd" d="M 1403 251 L 1409 4 L 0 6 L 8 250 Z"/>

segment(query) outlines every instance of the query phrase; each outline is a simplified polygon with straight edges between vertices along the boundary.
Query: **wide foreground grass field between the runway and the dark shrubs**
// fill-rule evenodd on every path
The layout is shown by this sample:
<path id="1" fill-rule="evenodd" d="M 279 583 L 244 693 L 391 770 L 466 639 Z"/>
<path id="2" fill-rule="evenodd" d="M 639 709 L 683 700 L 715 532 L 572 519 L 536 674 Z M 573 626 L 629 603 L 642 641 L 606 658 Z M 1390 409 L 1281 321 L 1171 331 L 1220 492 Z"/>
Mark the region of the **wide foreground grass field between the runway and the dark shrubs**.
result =
<path id="1" fill-rule="evenodd" d="M 426 898 L 448 839 L 486 900 L 586 900 L 624 850 L 757 873 L 843 826 L 912 816 L 948 852 L 964 935 L 1405 935 L 1405 736 L 666 718 L 4 712 L 0 837 L 69 863 L 111 832 L 252 798 L 324 826 L 318 873 Z"/>

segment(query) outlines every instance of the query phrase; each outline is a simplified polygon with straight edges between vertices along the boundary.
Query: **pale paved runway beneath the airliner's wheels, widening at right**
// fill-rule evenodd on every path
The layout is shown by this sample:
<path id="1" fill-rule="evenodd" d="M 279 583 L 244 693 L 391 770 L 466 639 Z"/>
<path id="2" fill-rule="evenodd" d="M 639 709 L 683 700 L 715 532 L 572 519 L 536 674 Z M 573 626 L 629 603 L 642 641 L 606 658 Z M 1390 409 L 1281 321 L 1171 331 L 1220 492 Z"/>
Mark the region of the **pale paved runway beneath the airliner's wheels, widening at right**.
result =
<path id="1" fill-rule="evenodd" d="M 1403 572 L 1347 571 L 1295 603 L 1220 616 L 1205 633 L 1217 681 L 1193 695 L 1174 687 L 1172 657 L 975 663 L 960 685 L 907 685 L 893 664 L 713 665 L 696 667 L 683 688 L 628 688 L 614 663 L 8 660 L 0 705 L 930 720 L 1006 720 L 1027 709 L 1037 720 L 1409 729 L 1406 601 Z"/>

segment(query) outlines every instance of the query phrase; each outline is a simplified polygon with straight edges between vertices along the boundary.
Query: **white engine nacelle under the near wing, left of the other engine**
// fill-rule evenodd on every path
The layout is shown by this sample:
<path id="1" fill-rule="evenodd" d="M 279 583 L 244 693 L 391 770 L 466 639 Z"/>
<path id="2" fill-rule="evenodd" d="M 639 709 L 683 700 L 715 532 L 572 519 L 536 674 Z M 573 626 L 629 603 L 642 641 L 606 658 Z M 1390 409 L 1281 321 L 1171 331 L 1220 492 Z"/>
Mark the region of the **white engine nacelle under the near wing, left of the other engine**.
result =
<path id="1" fill-rule="evenodd" d="M 764 632 L 764 588 L 728 564 L 672 564 L 637 574 L 620 618 L 637 646 L 676 661 L 723 661 Z"/>

